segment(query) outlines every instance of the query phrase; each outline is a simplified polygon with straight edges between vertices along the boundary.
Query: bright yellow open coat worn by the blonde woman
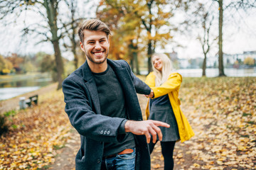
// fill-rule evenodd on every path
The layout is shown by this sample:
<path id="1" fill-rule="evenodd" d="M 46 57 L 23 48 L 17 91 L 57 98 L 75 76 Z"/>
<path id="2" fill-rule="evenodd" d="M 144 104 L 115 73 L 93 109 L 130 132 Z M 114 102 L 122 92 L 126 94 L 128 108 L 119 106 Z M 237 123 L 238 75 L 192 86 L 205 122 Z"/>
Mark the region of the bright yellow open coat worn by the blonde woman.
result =
<path id="1" fill-rule="evenodd" d="M 149 87 L 154 91 L 154 98 L 168 94 L 171 107 L 174 110 L 174 115 L 178 124 L 178 132 L 181 137 L 181 142 L 189 140 L 195 134 L 180 108 L 181 101 L 178 99 L 178 89 L 180 88 L 182 82 L 181 74 L 176 72 L 170 74 L 169 79 L 164 82 L 164 84 L 161 84 L 161 86 L 157 87 L 155 86 L 155 77 L 156 76 L 154 75 L 154 72 L 149 73 L 149 75 L 146 77 L 145 83 L 149 85 Z M 146 106 L 146 119 L 148 118 L 149 101 Z"/>

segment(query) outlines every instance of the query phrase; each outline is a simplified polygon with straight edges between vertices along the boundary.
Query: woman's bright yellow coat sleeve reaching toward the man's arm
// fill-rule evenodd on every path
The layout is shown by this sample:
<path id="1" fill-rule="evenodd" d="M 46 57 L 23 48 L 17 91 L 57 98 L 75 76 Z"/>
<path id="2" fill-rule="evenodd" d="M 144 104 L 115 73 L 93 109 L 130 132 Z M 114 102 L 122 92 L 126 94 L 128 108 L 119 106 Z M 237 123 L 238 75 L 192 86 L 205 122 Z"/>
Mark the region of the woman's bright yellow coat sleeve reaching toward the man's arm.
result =
<path id="1" fill-rule="evenodd" d="M 154 91 L 154 98 L 169 94 L 171 91 L 176 91 L 181 86 L 182 77 L 178 73 L 170 74 L 169 79 L 161 84 L 161 86 L 151 87 Z"/>

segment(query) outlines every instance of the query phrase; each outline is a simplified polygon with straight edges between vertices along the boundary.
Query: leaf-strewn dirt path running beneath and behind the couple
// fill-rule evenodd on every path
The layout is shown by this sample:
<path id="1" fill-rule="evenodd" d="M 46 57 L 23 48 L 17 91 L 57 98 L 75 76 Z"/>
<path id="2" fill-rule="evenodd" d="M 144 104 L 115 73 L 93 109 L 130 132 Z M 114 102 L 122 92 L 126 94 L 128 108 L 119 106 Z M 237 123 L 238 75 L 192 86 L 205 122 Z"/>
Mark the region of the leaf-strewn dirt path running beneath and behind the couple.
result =
<path id="1" fill-rule="evenodd" d="M 143 95 L 138 95 L 139 103 L 142 108 L 142 113 L 145 113 L 147 98 Z M 55 163 L 50 166 L 49 169 L 58 169 L 58 170 L 70 170 L 75 169 L 75 154 L 78 152 L 80 147 L 80 136 L 75 129 L 72 130 L 70 140 L 68 140 L 65 147 L 58 150 L 58 156 L 55 158 Z M 175 159 L 175 168 L 177 170 L 183 169 L 183 164 L 185 162 L 191 163 L 191 157 L 189 154 L 186 156 L 182 152 L 187 152 L 186 149 L 189 147 L 189 144 L 181 144 L 177 142 L 174 150 L 174 159 Z M 154 148 L 154 152 L 151 154 L 151 169 L 164 170 L 164 158 L 161 155 L 161 146 L 159 142 Z"/>

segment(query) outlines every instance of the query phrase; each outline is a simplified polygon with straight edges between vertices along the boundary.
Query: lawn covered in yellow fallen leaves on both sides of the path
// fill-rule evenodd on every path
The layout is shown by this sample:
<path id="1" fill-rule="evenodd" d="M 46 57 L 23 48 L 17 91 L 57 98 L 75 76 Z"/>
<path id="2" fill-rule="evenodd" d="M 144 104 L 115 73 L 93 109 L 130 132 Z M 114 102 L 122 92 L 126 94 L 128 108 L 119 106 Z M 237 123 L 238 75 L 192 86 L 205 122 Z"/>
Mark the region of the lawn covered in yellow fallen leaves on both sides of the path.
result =
<path id="1" fill-rule="evenodd" d="M 175 149 L 181 169 L 255 167 L 256 77 L 183 78 L 180 98 L 196 134 Z M 56 149 L 65 146 L 71 125 L 62 91 L 39 99 L 38 106 L 7 118 L 9 132 L 0 137 L 0 169 L 46 168 Z"/>

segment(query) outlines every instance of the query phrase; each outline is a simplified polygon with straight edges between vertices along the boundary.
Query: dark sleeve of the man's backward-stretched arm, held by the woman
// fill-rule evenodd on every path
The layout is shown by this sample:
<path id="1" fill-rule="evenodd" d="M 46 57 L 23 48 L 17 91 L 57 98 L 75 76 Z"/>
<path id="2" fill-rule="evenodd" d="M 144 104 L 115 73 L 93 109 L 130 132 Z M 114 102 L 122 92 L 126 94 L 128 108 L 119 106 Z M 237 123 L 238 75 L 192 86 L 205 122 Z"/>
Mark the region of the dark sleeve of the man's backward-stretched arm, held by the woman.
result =
<path id="1" fill-rule="evenodd" d="M 129 67 L 129 64 L 127 62 L 125 62 L 125 63 L 126 63 L 126 67 L 127 67 L 128 71 L 129 71 L 129 74 L 132 77 L 132 81 L 133 81 L 136 92 L 138 94 L 150 94 L 150 92 L 151 92 L 150 87 L 148 85 L 146 85 L 141 79 L 136 77 L 134 75 L 134 73 L 132 72 L 132 69 Z"/>

